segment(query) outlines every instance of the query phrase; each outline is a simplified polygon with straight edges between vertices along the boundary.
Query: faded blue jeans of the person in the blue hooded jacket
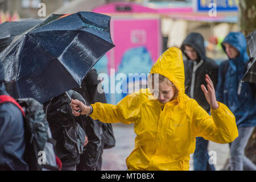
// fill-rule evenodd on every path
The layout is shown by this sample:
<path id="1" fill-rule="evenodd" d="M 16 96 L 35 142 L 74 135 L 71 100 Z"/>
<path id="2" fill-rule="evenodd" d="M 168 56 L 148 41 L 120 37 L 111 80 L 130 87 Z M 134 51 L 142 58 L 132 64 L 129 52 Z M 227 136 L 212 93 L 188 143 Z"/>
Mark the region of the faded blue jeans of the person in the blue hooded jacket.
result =
<path id="1" fill-rule="evenodd" d="M 230 170 L 231 171 L 256 171 L 256 166 L 245 156 L 246 144 L 253 133 L 252 127 L 237 127 L 238 137 L 229 144 L 230 146 Z"/>

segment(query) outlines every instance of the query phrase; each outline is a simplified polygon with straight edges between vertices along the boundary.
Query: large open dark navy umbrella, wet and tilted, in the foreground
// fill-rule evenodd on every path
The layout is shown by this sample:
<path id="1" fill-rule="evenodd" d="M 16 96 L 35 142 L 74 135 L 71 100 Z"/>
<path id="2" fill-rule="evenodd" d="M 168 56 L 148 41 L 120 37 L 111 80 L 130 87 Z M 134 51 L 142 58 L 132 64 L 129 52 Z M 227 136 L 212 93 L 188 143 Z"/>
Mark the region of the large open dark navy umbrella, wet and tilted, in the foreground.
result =
<path id="1" fill-rule="evenodd" d="M 109 25 L 110 16 L 97 13 L 53 14 L 16 36 L 0 54 L 7 92 L 44 103 L 79 87 L 90 68 L 114 47 Z"/>

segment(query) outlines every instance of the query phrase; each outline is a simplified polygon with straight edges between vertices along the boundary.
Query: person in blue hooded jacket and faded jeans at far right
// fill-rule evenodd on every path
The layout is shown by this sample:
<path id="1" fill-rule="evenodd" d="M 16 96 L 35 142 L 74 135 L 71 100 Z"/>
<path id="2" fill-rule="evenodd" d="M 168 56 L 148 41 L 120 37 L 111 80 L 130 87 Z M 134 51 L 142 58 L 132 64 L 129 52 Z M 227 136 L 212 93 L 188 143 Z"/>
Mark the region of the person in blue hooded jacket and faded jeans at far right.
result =
<path id="1" fill-rule="evenodd" d="M 256 126 L 256 84 L 242 82 L 249 60 L 245 36 L 240 32 L 230 32 L 221 45 L 229 59 L 219 67 L 216 96 L 234 113 L 239 133 L 239 137 L 230 144 L 230 168 L 256 170 L 255 164 L 244 155 Z"/>

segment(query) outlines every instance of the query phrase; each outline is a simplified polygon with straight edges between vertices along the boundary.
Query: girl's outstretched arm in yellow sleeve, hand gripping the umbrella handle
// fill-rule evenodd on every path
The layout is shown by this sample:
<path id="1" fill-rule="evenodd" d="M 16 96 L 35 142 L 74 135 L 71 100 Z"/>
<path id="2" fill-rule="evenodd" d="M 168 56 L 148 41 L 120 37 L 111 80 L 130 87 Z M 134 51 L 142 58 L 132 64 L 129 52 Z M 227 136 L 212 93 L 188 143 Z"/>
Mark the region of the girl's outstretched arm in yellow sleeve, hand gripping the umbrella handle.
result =
<path id="1" fill-rule="evenodd" d="M 139 93 L 129 94 L 118 102 L 117 105 L 96 102 L 91 106 L 93 107 L 93 112 L 90 114 L 90 117 L 105 123 L 122 122 L 130 124 L 140 117 Z M 90 113 L 90 107 L 77 100 L 72 100 L 71 108 L 76 116 L 80 115 L 76 111 L 79 109 L 81 109 L 81 114 Z"/>

